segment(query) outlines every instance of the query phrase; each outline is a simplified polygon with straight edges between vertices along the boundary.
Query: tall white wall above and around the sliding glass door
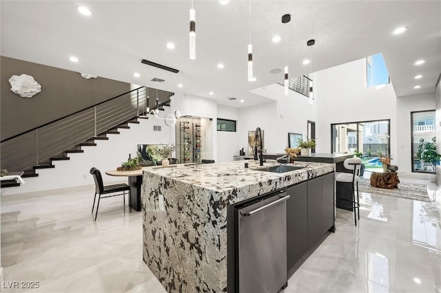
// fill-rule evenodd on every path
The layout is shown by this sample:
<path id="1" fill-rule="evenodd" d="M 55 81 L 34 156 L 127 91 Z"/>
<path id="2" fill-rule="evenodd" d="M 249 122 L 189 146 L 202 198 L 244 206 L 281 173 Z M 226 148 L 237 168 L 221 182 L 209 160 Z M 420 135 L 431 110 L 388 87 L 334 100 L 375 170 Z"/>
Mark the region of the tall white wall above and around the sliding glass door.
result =
<path id="1" fill-rule="evenodd" d="M 332 123 L 390 119 L 391 155 L 399 166 L 395 91 L 391 84 L 367 88 L 365 72 L 365 59 L 316 72 L 317 153 L 331 152 Z"/>

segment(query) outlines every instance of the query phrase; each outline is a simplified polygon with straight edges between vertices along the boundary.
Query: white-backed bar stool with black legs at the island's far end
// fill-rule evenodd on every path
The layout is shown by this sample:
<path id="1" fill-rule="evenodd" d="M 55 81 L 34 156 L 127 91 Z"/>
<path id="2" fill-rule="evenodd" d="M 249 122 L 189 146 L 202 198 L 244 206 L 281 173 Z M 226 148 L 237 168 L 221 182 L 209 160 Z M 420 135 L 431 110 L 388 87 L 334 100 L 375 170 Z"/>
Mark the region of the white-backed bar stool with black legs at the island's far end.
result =
<path id="1" fill-rule="evenodd" d="M 351 183 L 352 187 L 352 200 L 339 198 L 340 200 L 345 200 L 351 203 L 351 206 L 345 206 L 346 208 L 351 208 L 353 210 L 353 219 L 357 226 L 357 209 L 358 209 L 358 219 L 360 219 L 360 200 L 358 197 L 358 181 L 360 181 L 360 169 L 361 169 L 361 159 L 360 158 L 349 158 L 343 162 L 343 166 L 346 169 L 351 170 L 351 173 L 336 172 L 336 182 L 346 182 Z M 356 191 L 357 187 L 357 200 Z"/>

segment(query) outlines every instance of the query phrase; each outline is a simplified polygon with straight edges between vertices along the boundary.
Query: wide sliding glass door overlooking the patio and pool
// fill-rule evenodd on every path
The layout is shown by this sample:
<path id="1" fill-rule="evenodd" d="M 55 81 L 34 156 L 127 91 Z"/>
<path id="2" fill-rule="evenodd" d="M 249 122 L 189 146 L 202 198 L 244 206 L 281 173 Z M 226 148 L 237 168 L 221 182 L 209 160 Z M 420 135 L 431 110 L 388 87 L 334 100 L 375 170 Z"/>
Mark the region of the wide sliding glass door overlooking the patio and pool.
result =
<path id="1" fill-rule="evenodd" d="M 331 124 L 332 153 L 361 153 L 366 169 L 380 169 L 390 155 L 390 120 Z"/>

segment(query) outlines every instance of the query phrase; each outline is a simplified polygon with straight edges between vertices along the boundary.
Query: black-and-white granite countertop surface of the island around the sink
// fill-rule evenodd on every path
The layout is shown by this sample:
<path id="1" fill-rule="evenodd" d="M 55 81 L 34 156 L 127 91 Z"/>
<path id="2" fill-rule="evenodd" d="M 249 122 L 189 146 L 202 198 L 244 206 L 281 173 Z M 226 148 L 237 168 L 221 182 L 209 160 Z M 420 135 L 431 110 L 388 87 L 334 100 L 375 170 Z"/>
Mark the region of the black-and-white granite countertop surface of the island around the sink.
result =
<path id="1" fill-rule="evenodd" d="M 248 163 L 249 168 L 245 168 L 245 163 Z M 256 170 L 265 166 L 278 165 L 280 163 L 276 162 L 276 160 L 267 160 L 263 166 L 259 166 L 259 162 L 254 160 L 187 166 L 178 164 L 162 169 L 144 171 L 143 173 L 153 173 L 166 177 L 169 180 L 202 187 L 209 191 L 223 192 L 273 181 L 278 182 L 278 188 L 283 188 L 334 171 L 333 165 L 318 162 L 285 164 L 304 167 L 303 169 L 285 173 Z"/>

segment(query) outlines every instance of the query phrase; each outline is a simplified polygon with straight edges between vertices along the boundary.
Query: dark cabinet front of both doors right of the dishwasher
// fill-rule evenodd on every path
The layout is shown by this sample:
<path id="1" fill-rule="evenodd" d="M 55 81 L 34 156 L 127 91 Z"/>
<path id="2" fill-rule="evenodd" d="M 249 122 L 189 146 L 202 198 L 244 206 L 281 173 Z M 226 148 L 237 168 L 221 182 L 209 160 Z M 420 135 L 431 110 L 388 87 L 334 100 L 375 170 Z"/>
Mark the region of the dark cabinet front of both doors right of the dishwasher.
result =
<path id="1" fill-rule="evenodd" d="M 287 188 L 288 278 L 334 228 L 334 173 Z"/>

